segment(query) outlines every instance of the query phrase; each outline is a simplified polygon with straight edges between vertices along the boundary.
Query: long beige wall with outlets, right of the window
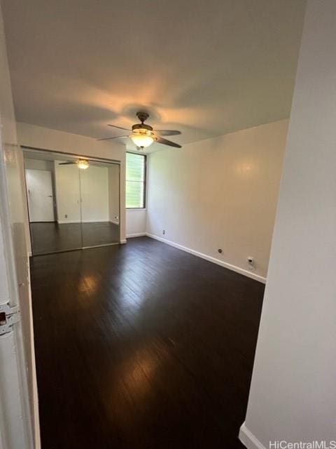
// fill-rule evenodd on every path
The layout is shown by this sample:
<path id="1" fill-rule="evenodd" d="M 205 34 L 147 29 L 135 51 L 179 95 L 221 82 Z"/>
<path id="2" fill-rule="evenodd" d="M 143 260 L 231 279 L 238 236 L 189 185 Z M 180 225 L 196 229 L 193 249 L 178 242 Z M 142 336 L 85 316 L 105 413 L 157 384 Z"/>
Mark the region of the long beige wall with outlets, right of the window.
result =
<path id="1" fill-rule="evenodd" d="M 151 154 L 147 232 L 265 278 L 287 126 L 277 121 Z"/>

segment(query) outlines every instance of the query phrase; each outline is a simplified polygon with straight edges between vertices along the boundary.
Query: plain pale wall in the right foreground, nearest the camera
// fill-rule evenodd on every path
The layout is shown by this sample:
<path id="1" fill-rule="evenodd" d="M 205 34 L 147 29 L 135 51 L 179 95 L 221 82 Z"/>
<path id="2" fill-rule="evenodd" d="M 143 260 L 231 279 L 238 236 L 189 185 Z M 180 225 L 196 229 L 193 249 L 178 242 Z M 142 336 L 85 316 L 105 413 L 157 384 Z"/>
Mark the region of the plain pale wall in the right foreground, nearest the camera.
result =
<path id="1" fill-rule="evenodd" d="M 241 428 L 248 448 L 336 440 L 335 41 L 335 0 L 309 0 Z"/>

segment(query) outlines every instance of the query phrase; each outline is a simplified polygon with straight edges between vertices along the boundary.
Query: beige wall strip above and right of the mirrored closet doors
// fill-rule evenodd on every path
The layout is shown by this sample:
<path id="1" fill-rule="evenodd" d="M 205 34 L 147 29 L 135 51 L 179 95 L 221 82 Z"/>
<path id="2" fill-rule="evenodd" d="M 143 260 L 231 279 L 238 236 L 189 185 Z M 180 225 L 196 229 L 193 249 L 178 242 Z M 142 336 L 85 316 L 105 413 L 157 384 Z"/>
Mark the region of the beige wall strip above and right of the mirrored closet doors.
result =
<path id="1" fill-rule="evenodd" d="M 120 238 L 125 241 L 125 146 L 27 123 L 17 123 L 17 129 L 20 145 L 120 161 Z"/>

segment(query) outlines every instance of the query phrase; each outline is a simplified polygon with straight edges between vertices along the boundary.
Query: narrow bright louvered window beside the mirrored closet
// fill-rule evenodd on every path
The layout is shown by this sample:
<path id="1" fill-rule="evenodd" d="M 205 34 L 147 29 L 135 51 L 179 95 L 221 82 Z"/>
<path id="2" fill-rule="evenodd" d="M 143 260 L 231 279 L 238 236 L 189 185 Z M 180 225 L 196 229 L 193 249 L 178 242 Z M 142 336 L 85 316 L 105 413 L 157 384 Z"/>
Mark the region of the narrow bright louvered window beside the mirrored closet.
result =
<path id="1" fill-rule="evenodd" d="M 146 156 L 126 153 L 126 208 L 145 207 Z"/>

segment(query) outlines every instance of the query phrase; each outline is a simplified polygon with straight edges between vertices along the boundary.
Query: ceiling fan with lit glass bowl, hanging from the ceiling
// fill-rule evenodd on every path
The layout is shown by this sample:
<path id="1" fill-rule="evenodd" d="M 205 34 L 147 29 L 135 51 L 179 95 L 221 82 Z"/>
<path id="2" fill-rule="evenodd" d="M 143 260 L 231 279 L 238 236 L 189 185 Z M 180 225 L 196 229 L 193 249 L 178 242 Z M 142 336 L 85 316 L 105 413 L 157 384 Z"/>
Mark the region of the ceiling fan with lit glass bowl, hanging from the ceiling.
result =
<path id="1" fill-rule="evenodd" d="M 167 140 L 162 138 L 162 135 L 179 135 L 181 131 L 177 130 L 154 130 L 152 126 L 144 123 L 149 117 L 147 112 L 137 112 L 137 117 L 141 121 L 141 123 L 135 123 L 132 126 L 132 129 L 122 128 L 121 126 L 109 125 L 113 128 L 122 129 L 125 131 L 129 131 L 130 135 L 118 135 L 112 138 L 98 139 L 98 140 L 110 140 L 110 139 L 127 139 L 131 138 L 135 145 L 137 145 L 138 149 L 144 149 L 152 145 L 153 142 L 161 143 L 162 145 L 168 145 L 169 147 L 181 148 L 181 145 L 172 142 L 172 140 Z"/>

